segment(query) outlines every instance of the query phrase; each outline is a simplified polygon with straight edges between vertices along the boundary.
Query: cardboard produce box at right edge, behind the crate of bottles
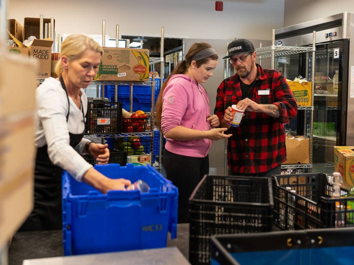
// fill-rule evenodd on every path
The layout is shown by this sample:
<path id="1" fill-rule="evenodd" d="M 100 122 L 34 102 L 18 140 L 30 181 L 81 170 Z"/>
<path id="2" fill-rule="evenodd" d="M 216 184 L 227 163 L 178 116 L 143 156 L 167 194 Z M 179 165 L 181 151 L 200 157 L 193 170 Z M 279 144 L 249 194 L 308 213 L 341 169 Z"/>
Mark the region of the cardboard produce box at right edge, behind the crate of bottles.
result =
<path id="1" fill-rule="evenodd" d="M 354 146 L 334 146 L 334 168 L 343 177 L 342 187 L 350 190 L 354 185 Z"/>

